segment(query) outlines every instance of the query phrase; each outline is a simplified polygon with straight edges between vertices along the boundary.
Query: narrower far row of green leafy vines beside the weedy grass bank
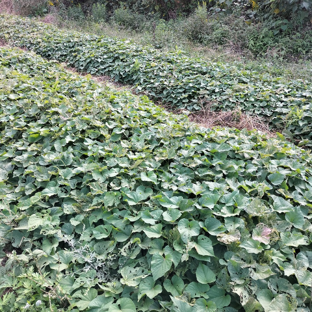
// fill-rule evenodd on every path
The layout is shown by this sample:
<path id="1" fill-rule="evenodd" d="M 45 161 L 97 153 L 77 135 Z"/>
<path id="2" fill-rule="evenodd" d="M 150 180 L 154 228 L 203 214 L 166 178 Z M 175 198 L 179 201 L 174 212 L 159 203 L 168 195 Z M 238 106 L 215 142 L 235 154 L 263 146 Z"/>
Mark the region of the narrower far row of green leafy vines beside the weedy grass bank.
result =
<path id="1" fill-rule="evenodd" d="M 243 111 L 268 118 L 280 132 L 311 144 L 312 85 L 268 74 L 162 53 L 134 42 L 61 31 L 31 19 L 1 16 L 0 38 L 41 56 L 68 63 L 78 71 L 109 75 L 134 84 L 157 100 L 188 110 L 211 101 L 213 110 Z"/>

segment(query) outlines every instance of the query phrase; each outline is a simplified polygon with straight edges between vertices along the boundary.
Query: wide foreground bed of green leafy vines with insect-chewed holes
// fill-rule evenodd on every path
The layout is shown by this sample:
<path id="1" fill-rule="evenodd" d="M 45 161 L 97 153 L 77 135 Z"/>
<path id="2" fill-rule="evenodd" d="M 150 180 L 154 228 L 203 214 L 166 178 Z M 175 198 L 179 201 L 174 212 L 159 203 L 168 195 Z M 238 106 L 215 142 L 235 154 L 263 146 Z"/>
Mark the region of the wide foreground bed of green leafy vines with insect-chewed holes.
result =
<path id="1" fill-rule="evenodd" d="M 309 152 L 18 49 L 0 122 L 1 311 L 310 311 Z"/>

